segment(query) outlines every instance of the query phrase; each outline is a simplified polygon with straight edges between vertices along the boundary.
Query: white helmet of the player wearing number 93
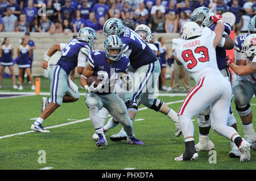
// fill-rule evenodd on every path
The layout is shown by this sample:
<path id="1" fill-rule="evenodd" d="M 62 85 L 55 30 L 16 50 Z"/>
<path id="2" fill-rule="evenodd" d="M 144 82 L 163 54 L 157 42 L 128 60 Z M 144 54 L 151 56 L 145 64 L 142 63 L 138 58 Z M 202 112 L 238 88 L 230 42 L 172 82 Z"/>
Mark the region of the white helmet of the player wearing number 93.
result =
<path id="1" fill-rule="evenodd" d="M 187 22 L 181 28 L 181 39 L 188 40 L 194 36 L 201 36 L 201 28 L 195 22 Z"/>

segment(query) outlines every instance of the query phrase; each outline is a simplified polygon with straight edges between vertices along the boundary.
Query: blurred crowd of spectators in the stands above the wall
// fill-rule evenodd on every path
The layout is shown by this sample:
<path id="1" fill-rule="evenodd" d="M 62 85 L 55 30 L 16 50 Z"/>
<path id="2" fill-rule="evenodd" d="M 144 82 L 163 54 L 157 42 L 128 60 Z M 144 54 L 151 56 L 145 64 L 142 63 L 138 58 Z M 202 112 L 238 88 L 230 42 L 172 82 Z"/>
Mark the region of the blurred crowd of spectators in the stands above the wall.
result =
<path id="1" fill-rule="evenodd" d="M 233 12 L 236 32 L 247 31 L 256 10 L 254 0 L 0 0 L 0 31 L 76 33 L 91 27 L 101 33 L 114 17 L 133 30 L 147 24 L 153 32 L 177 33 L 193 10 L 210 3 L 217 14 Z"/>

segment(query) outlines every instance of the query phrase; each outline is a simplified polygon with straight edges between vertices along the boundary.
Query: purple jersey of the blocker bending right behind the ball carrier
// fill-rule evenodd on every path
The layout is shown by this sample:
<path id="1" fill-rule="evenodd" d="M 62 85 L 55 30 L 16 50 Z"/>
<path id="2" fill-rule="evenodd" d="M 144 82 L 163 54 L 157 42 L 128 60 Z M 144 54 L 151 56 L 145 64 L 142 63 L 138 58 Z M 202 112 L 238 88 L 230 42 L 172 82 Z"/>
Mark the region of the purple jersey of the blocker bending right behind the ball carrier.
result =
<path id="1" fill-rule="evenodd" d="M 126 26 L 121 40 L 123 43 L 123 52 L 131 51 L 129 59 L 134 69 L 151 64 L 157 60 L 155 53 L 142 40 L 141 36 Z"/>

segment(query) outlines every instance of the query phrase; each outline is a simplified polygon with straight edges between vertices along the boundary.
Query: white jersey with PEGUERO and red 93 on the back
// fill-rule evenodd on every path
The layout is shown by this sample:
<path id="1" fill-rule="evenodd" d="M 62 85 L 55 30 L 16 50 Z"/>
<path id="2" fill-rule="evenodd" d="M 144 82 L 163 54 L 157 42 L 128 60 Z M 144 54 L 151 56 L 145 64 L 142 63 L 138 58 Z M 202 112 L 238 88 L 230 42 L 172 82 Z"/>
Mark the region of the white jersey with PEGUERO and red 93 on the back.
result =
<path id="1" fill-rule="evenodd" d="M 191 73 L 193 79 L 198 82 L 206 75 L 219 74 L 216 50 L 213 41 L 216 34 L 208 27 L 203 28 L 202 35 L 196 39 L 182 40 L 173 39 L 175 56 Z"/>

